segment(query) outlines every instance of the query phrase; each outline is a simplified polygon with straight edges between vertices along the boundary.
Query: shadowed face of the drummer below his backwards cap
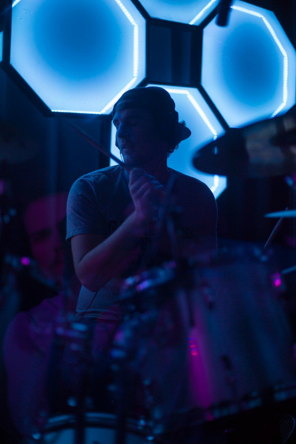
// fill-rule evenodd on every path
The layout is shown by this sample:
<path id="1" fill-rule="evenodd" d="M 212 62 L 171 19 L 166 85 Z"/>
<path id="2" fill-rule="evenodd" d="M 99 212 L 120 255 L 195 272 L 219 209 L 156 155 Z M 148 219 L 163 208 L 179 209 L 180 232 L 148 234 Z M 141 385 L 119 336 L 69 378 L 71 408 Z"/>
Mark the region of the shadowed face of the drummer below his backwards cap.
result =
<path id="1" fill-rule="evenodd" d="M 127 108 L 114 114 L 116 141 L 124 163 L 145 167 L 166 155 L 167 142 L 159 134 L 154 117 L 141 108 Z"/>

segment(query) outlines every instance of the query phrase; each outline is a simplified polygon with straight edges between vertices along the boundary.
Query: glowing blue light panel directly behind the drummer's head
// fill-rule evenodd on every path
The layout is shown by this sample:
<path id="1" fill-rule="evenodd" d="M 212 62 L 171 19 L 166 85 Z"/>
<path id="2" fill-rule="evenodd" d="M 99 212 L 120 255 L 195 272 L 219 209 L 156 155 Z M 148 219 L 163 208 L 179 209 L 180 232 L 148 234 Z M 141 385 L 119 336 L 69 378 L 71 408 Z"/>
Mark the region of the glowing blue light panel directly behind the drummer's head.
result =
<path id="1" fill-rule="evenodd" d="M 205 182 L 217 198 L 226 188 L 226 178 L 223 176 L 199 173 L 192 165 L 192 158 L 199 147 L 223 135 L 223 127 L 221 127 L 221 124 L 213 115 L 213 112 L 197 89 L 172 87 L 168 85 L 147 86 L 161 86 L 165 88 L 176 103 L 179 121 L 185 120 L 186 126 L 191 130 L 189 139 L 183 140 L 178 149 L 170 155 L 168 166 Z M 118 148 L 115 147 L 116 129 L 114 125 L 112 125 L 111 131 L 111 152 L 118 157 L 120 154 Z M 115 165 L 115 162 L 111 160 L 110 164 Z"/>

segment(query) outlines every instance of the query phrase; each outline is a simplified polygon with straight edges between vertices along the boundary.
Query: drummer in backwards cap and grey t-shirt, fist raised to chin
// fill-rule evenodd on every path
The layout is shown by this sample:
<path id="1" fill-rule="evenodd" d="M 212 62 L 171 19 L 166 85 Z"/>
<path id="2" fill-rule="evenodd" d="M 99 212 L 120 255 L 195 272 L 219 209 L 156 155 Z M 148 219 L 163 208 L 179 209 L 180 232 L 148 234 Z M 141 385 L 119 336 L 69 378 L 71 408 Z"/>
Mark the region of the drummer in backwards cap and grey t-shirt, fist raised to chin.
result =
<path id="1" fill-rule="evenodd" d="M 146 248 L 156 239 L 154 222 L 162 218 L 166 223 L 165 207 L 174 220 L 180 256 L 216 248 L 212 192 L 167 166 L 167 157 L 191 134 L 178 122 L 169 93 L 160 87 L 127 91 L 114 105 L 113 124 L 126 169 L 112 166 L 84 175 L 72 186 L 67 203 L 67 240 L 82 283 L 77 313 L 84 321 L 118 319 L 118 280 L 143 264 L 172 258 L 174 239 L 165 227 L 158 236 L 156 262 Z"/>

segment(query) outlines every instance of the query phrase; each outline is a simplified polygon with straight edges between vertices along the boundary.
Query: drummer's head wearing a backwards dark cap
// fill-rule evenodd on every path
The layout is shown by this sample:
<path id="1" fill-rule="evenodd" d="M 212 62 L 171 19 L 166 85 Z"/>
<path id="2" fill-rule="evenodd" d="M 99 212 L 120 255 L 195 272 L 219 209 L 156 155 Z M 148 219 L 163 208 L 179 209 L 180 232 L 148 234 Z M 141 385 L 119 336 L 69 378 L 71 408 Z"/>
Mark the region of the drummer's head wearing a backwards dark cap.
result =
<path id="1" fill-rule="evenodd" d="M 160 87 L 126 91 L 114 105 L 113 123 L 116 145 L 127 163 L 132 163 L 138 146 L 142 157 L 149 153 L 167 157 L 191 134 L 184 122 L 179 123 L 174 100 Z"/>

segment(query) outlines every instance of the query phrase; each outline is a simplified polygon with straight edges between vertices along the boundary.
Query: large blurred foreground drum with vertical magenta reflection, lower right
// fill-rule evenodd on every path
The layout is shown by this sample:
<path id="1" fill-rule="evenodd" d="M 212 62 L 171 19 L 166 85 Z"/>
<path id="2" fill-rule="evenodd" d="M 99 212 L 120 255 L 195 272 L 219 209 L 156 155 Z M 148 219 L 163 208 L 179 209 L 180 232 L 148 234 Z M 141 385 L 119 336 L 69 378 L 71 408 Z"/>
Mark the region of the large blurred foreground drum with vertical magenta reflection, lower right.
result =
<path id="1" fill-rule="evenodd" d="M 276 387 L 295 384 L 292 334 L 272 271 L 261 250 L 240 246 L 221 250 L 210 266 L 193 272 L 183 407 L 215 419 L 219 406 L 235 413 L 256 396 L 263 402 L 269 393 L 270 401 Z"/>

